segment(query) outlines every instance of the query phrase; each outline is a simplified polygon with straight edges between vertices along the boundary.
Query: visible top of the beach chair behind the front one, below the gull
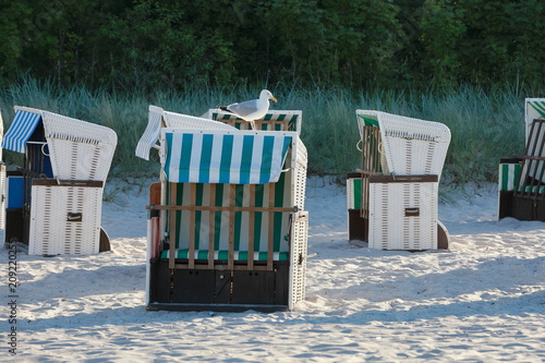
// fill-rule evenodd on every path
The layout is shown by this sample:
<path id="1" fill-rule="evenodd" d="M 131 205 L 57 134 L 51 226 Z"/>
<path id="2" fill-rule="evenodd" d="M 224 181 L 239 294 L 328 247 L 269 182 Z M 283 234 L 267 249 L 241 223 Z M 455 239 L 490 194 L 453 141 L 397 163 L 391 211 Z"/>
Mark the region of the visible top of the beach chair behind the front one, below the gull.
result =
<path id="1" fill-rule="evenodd" d="M 250 122 L 220 109 L 209 109 L 208 119 L 227 123 L 239 130 L 251 130 Z M 262 131 L 295 131 L 301 135 L 303 112 L 299 110 L 269 110 L 263 120 L 255 120 L 255 126 Z"/>

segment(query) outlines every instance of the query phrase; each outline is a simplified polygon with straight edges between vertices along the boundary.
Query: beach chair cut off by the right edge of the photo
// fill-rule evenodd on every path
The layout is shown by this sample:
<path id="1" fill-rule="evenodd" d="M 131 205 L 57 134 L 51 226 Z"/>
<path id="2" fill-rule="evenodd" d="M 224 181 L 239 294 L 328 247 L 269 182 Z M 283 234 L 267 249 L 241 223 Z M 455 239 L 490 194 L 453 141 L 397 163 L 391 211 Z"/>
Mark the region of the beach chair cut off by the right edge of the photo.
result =
<path id="1" fill-rule="evenodd" d="M 545 98 L 526 98 L 524 114 L 524 154 L 499 161 L 498 218 L 545 221 Z"/>

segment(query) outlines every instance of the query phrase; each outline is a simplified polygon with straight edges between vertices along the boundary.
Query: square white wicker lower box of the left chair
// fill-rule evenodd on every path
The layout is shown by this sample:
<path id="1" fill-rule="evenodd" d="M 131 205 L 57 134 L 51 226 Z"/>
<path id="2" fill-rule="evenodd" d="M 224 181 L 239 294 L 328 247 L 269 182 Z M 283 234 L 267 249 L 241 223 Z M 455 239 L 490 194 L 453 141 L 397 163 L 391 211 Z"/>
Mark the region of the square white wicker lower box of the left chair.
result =
<path id="1" fill-rule="evenodd" d="M 99 252 L 102 186 L 33 185 L 29 255 Z"/>

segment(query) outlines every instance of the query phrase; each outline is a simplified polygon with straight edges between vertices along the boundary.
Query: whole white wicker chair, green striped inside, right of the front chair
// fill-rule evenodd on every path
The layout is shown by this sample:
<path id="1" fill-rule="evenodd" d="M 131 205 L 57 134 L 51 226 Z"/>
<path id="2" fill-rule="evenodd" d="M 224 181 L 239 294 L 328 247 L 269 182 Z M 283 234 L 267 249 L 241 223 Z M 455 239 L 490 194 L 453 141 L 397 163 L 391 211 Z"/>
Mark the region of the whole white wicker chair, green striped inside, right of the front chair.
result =
<path id="1" fill-rule="evenodd" d="M 349 239 L 379 250 L 446 249 L 437 206 L 449 129 L 379 111 L 356 110 L 356 120 L 362 168 L 347 181 Z"/>

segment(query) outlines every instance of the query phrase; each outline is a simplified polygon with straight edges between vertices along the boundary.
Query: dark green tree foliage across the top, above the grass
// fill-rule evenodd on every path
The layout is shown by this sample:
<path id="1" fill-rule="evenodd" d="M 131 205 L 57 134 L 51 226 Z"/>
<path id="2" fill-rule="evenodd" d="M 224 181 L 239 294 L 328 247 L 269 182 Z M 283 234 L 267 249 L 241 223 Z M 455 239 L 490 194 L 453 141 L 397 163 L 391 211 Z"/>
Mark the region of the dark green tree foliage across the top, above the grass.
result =
<path id="1" fill-rule="evenodd" d="M 2 0 L 0 78 L 434 87 L 545 76 L 542 0 Z"/>

